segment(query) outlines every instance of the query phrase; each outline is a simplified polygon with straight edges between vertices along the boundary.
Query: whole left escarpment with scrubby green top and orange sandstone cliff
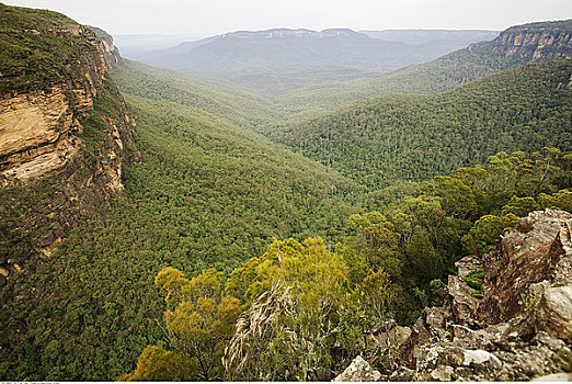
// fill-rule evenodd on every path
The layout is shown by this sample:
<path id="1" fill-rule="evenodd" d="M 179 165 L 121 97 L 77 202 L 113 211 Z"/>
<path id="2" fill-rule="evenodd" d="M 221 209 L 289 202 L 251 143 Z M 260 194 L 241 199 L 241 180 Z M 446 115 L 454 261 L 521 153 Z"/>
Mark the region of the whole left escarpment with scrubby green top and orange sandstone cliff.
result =
<path id="1" fill-rule="evenodd" d="M 54 12 L 3 4 L 0 12 L 8 46 L 0 60 L 5 280 L 13 266 L 49 257 L 78 219 L 123 188 L 135 122 L 106 79 L 121 59 L 107 34 Z"/>

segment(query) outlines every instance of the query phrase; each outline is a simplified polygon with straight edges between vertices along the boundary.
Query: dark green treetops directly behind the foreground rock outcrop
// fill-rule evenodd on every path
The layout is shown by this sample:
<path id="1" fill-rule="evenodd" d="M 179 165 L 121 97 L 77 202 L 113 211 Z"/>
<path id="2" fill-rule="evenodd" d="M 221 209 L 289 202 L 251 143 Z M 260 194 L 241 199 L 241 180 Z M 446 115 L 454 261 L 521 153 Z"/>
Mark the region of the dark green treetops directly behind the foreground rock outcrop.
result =
<path id="1" fill-rule="evenodd" d="M 500 153 L 484 167 L 459 168 L 419 183 L 411 195 L 380 204 L 379 212 L 351 216 L 346 237 L 335 247 L 351 282 L 358 284 L 382 267 L 392 281 L 386 313 L 400 323 L 414 321 L 424 305 L 442 302 L 443 281 L 456 271 L 455 261 L 490 250 L 514 227 L 515 214 L 567 206 L 571 193 L 557 188 L 569 168 L 557 159 L 568 155 L 552 148 L 542 153 Z"/>

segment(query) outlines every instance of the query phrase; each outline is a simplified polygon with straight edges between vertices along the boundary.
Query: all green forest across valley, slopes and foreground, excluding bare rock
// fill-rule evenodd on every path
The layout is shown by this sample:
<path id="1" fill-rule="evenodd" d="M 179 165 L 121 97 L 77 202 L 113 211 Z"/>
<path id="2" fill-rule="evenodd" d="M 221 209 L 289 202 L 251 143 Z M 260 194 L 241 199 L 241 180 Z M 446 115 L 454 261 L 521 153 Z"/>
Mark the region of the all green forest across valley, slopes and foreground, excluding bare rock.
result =
<path id="1" fill-rule="evenodd" d="M 14 156 L 52 144 L 0 147 L 2 380 L 325 381 L 358 354 L 388 373 L 371 329 L 439 306 L 455 262 L 518 217 L 572 213 L 570 45 L 516 60 L 479 43 L 272 94 L 103 65 L 88 27 L 0 12 L 2 94 L 64 83 L 56 136 L 80 143 L 25 180 Z"/>

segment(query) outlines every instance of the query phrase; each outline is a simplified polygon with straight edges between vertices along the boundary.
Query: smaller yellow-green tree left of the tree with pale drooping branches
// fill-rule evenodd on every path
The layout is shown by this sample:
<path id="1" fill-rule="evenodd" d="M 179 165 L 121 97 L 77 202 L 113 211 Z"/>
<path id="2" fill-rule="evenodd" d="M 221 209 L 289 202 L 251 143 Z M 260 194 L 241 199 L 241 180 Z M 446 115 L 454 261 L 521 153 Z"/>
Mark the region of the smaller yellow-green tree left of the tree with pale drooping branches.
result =
<path id="1" fill-rule="evenodd" d="M 222 273 L 208 269 L 187 280 L 169 267 L 155 283 L 165 294 L 164 331 L 174 351 L 148 347 L 130 379 L 222 380 L 222 353 L 241 313 L 237 298 L 222 295 Z"/>

